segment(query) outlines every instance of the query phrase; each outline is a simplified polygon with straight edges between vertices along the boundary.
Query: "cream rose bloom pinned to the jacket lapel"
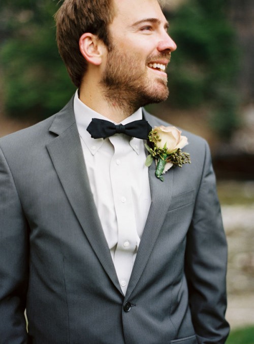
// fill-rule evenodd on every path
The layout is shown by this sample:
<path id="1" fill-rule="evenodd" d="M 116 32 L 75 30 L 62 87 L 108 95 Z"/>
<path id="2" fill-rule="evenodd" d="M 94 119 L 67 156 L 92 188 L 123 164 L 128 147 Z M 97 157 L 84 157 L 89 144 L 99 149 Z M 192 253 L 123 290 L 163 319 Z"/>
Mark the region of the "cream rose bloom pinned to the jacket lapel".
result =
<path id="1" fill-rule="evenodd" d="M 165 143 L 167 147 L 167 154 L 172 154 L 177 151 L 178 148 L 183 148 L 188 144 L 188 139 L 186 136 L 181 136 L 181 131 L 176 127 L 155 127 L 152 130 L 153 133 L 156 132 L 158 140 L 154 142 L 158 148 L 164 148 Z"/>

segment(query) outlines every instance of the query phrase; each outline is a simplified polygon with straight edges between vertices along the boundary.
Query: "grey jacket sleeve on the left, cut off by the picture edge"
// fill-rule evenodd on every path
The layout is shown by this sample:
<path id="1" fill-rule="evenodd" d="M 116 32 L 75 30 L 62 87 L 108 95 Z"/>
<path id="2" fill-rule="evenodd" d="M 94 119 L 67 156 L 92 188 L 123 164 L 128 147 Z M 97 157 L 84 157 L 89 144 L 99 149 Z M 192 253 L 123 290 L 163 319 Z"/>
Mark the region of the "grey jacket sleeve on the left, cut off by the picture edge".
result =
<path id="1" fill-rule="evenodd" d="M 0 149 L 0 344 L 27 342 L 24 317 L 27 281 L 27 224 Z"/>

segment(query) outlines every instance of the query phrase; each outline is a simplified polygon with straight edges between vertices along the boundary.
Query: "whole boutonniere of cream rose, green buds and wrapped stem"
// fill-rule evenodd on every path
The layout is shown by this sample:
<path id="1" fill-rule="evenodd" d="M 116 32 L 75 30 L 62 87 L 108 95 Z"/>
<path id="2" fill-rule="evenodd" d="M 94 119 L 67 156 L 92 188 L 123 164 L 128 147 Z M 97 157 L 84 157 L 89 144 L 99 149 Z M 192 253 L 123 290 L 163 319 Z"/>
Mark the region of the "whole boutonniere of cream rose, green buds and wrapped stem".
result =
<path id="1" fill-rule="evenodd" d="M 149 167 L 155 159 L 155 175 L 163 181 L 162 175 L 173 165 L 182 167 L 183 164 L 190 163 L 189 154 L 181 151 L 186 144 L 188 144 L 187 137 L 182 136 L 177 128 L 155 127 L 148 135 L 148 144 L 145 144 L 150 153 L 145 165 Z"/>

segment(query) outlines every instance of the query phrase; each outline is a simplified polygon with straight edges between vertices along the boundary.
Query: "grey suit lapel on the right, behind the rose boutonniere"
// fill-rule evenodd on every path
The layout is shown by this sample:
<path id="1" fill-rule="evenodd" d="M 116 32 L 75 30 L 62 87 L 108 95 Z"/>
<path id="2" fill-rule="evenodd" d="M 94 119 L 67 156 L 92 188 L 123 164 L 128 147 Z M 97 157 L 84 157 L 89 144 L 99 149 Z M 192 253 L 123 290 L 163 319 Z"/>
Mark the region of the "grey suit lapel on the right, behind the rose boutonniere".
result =
<path id="1" fill-rule="evenodd" d="M 157 125 L 157 123 L 154 123 L 153 118 L 149 117 L 149 114 L 145 113 L 145 118 L 152 127 Z M 141 237 L 131 279 L 126 291 L 126 297 L 130 296 L 145 268 L 156 239 L 161 231 L 172 199 L 173 170 L 169 170 L 165 173 L 164 181 L 161 181 L 155 176 L 155 162 L 153 161 L 152 165 L 149 167 L 148 174 L 151 191 L 151 206 Z"/>

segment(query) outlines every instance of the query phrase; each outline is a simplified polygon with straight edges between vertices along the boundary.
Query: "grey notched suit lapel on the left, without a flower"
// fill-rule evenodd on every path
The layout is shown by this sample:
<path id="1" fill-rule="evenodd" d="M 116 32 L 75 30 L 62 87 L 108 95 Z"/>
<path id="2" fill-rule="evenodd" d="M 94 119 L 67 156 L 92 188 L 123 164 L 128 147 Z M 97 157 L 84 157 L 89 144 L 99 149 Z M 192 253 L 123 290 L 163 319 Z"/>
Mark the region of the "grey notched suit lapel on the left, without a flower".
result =
<path id="1" fill-rule="evenodd" d="M 72 101 L 56 115 L 50 131 L 57 134 L 48 145 L 56 173 L 83 231 L 116 288 L 121 292 L 110 250 L 93 201 Z"/>

